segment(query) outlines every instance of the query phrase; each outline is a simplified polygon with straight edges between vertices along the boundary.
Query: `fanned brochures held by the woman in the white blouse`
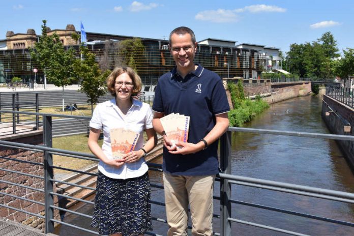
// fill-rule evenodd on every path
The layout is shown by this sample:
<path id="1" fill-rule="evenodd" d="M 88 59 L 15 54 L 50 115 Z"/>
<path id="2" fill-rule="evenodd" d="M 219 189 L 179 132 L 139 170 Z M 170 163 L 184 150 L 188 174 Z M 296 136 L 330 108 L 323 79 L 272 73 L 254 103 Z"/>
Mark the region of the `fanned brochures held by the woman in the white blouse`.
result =
<path id="1" fill-rule="evenodd" d="M 124 128 L 111 129 L 109 133 L 113 159 L 123 159 L 125 154 L 134 151 L 140 135 Z"/>

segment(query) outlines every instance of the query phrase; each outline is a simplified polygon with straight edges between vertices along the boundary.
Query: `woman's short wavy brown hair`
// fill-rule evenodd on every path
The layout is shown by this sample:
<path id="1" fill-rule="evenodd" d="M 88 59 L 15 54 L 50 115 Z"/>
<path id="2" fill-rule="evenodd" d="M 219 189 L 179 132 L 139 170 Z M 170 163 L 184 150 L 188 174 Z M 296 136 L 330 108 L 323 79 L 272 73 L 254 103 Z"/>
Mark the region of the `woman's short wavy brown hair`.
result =
<path id="1" fill-rule="evenodd" d="M 130 67 L 116 67 L 116 68 L 114 68 L 112 73 L 110 73 L 110 75 L 107 77 L 107 88 L 108 88 L 109 93 L 113 97 L 116 97 L 115 88 L 114 88 L 115 79 L 118 76 L 120 76 L 121 74 L 124 74 L 124 73 L 127 73 L 128 76 L 133 81 L 132 94 L 137 94 L 141 90 L 141 79 L 140 79 L 140 76 L 137 73 L 135 73 L 135 71 L 132 68 L 130 68 Z"/>

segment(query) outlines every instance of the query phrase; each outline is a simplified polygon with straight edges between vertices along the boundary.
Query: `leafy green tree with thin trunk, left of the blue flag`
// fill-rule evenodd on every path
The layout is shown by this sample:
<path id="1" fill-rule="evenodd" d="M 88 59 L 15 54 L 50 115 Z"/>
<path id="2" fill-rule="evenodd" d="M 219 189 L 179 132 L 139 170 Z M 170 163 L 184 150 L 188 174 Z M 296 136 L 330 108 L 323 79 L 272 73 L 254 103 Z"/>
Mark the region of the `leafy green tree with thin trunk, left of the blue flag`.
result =
<path id="1" fill-rule="evenodd" d="M 42 24 L 42 36 L 34 46 L 30 48 L 31 57 L 43 68 L 44 76 L 55 86 L 63 87 L 63 111 L 64 111 L 64 86 L 71 85 L 75 81 L 73 64 L 76 60 L 75 50 L 65 50 L 59 36 L 55 33 L 48 36 L 46 20 Z"/>

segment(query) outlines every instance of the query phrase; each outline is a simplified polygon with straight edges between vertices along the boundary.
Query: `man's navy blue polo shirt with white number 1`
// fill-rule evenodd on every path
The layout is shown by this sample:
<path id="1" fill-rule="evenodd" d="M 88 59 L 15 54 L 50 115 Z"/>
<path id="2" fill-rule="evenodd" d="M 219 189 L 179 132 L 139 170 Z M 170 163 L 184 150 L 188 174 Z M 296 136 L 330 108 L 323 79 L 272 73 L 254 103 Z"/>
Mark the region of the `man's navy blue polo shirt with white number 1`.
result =
<path id="1" fill-rule="evenodd" d="M 220 77 L 202 66 L 183 79 L 176 68 L 162 75 L 155 90 L 153 110 L 190 116 L 188 142 L 197 143 L 216 124 L 215 115 L 228 112 L 226 92 Z M 164 147 L 163 170 L 173 175 L 218 173 L 218 141 L 195 154 L 170 154 Z"/>

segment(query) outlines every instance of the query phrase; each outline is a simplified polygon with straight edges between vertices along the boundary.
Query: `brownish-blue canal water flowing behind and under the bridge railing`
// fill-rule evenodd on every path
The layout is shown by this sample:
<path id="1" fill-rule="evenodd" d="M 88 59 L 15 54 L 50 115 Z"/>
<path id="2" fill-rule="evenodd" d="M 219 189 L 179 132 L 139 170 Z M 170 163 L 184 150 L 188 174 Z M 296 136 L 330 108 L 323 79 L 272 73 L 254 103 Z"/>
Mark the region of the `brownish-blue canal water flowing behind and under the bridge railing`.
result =
<path id="1" fill-rule="evenodd" d="M 321 97 L 299 97 L 280 103 L 258 115 L 248 128 L 329 133 L 321 119 Z M 157 162 L 161 162 L 158 160 Z M 301 138 L 253 133 L 232 134 L 232 174 L 354 193 L 354 175 L 336 142 L 328 139 Z M 162 183 L 160 173 L 150 171 L 152 183 Z M 219 195 L 219 183 L 215 186 Z M 163 192 L 152 188 L 152 199 L 163 202 Z M 318 215 L 343 221 L 354 221 L 352 204 L 232 185 L 232 199 Z M 215 201 L 215 213 L 220 206 Z M 153 205 L 154 217 L 165 219 L 164 207 Z M 92 206 L 84 205 L 79 212 L 92 214 Z M 318 220 L 291 216 L 232 204 L 232 217 L 309 235 L 354 235 L 354 228 L 323 223 Z M 65 222 L 90 228 L 90 220 L 68 215 Z M 153 221 L 154 232 L 166 235 L 167 226 Z M 92 228 L 91 228 L 92 229 Z M 219 220 L 214 220 L 219 232 Z M 60 235 L 90 235 L 68 226 L 58 227 Z M 93 234 L 92 234 L 93 235 Z M 267 229 L 232 223 L 232 235 L 287 235 Z"/>

